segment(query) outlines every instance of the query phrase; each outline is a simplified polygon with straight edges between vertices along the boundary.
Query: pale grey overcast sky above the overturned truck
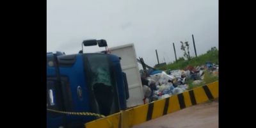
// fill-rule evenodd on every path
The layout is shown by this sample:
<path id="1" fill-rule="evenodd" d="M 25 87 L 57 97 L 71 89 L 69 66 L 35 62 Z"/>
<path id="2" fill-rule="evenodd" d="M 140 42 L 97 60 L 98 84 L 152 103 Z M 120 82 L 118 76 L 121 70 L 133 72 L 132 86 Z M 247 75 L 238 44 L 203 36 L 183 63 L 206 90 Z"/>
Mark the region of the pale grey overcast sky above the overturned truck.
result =
<path id="1" fill-rule="evenodd" d="M 214 0 L 47 0 L 47 52 L 74 54 L 87 39 L 105 39 L 108 47 L 135 45 L 137 57 L 154 66 L 183 56 L 180 41 L 197 54 L 218 48 L 218 1 Z M 84 47 L 85 52 L 104 48 Z"/>

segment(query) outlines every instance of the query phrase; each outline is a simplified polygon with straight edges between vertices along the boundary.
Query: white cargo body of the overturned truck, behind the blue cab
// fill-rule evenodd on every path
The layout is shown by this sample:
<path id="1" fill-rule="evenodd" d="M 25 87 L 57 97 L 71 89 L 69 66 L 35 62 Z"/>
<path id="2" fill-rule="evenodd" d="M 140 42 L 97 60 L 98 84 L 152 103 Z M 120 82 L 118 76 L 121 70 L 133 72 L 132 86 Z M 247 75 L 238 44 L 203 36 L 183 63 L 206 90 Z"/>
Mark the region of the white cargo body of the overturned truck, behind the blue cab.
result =
<path id="1" fill-rule="evenodd" d="M 125 72 L 129 88 L 129 99 L 127 107 L 133 107 L 143 104 L 143 88 L 141 77 L 136 60 L 134 44 L 120 45 L 109 48 L 110 54 L 115 54 L 121 58 L 122 71 Z"/>

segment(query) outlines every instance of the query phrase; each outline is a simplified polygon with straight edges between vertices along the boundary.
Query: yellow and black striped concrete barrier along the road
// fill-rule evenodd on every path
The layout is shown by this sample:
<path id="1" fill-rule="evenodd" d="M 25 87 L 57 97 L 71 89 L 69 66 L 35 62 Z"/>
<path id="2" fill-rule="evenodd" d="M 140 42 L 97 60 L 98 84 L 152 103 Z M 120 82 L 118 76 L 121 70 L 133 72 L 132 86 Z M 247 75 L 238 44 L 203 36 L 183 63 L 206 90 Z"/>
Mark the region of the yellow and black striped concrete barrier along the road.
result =
<path id="1" fill-rule="evenodd" d="M 127 109 L 105 118 L 93 120 L 84 125 L 86 128 L 128 128 L 218 97 L 219 82 L 216 81 L 178 95 L 172 95 L 166 99 L 157 100 L 156 102 Z"/>

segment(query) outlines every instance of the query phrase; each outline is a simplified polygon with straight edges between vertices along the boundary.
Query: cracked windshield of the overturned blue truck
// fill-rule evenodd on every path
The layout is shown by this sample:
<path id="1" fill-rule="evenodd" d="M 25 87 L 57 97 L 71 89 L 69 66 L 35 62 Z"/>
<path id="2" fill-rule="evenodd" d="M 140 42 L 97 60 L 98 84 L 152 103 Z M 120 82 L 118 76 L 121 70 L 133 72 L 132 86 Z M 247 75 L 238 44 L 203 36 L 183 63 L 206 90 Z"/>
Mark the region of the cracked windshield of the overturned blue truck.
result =
<path id="1" fill-rule="evenodd" d="M 85 62 L 89 88 L 93 92 L 100 114 L 118 112 L 115 76 L 108 55 L 86 54 Z"/>

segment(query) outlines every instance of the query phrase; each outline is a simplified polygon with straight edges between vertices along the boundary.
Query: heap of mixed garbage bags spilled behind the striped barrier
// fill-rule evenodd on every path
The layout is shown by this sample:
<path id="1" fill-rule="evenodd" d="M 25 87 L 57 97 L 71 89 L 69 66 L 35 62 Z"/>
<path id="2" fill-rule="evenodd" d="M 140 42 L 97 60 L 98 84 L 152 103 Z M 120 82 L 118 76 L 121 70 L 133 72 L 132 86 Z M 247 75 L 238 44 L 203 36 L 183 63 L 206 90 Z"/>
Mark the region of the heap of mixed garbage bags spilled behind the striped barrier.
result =
<path id="1" fill-rule="evenodd" d="M 211 74 L 218 76 L 218 65 L 211 62 L 198 67 L 189 65 L 184 70 L 166 70 L 166 72 L 154 70 L 148 75 L 141 72 L 144 103 L 164 99 L 188 90 L 189 86 L 186 83 L 188 80 L 192 80 L 193 84 L 202 83 L 205 70 L 209 70 Z"/>

